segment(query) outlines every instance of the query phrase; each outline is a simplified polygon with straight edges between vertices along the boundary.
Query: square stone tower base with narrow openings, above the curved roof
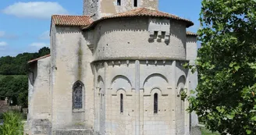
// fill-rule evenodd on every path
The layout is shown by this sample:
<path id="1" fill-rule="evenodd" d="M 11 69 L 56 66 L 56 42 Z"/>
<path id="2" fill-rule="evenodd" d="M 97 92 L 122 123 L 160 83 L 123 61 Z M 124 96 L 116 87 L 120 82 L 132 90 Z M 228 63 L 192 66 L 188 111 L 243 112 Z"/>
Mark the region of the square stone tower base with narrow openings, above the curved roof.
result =
<path id="1" fill-rule="evenodd" d="M 103 16 L 142 7 L 158 10 L 158 0 L 84 0 L 84 15 L 98 20 Z"/>

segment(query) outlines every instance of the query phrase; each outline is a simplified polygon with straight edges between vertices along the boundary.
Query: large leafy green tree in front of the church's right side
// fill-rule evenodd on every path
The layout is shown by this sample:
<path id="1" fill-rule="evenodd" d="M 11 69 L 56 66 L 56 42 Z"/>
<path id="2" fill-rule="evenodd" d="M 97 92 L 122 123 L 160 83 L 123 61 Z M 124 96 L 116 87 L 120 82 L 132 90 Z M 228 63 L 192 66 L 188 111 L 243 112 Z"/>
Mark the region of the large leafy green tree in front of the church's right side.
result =
<path id="1" fill-rule="evenodd" d="M 256 134 L 256 1 L 202 0 L 190 111 L 219 133 Z"/>

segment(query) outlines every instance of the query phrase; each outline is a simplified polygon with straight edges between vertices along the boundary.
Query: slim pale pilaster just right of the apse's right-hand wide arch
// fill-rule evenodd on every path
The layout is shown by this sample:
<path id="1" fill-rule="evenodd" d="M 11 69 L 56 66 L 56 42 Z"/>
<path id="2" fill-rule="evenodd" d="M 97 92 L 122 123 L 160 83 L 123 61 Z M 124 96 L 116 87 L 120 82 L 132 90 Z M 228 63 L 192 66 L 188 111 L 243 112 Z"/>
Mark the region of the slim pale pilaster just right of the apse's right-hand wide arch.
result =
<path id="1" fill-rule="evenodd" d="M 176 98 L 177 98 L 177 94 L 176 94 L 176 61 L 172 62 L 172 93 L 171 93 L 171 102 L 172 102 L 172 131 L 171 134 L 175 135 L 176 134 Z"/>

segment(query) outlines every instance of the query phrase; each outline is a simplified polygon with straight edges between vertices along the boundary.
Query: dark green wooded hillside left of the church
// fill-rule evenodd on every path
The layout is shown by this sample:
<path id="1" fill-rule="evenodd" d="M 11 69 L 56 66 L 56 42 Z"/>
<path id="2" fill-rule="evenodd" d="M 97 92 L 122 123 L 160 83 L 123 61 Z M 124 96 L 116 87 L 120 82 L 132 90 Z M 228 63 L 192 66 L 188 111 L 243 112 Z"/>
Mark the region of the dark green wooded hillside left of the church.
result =
<path id="1" fill-rule="evenodd" d="M 16 57 L 5 56 L 0 58 L 0 99 L 8 97 L 12 105 L 21 105 L 27 108 L 28 96 L 28 64 L 31 59 L 36 59 L 50 53 L 49 48 L 41 48 L 36 53 L 22 53 Z"/>

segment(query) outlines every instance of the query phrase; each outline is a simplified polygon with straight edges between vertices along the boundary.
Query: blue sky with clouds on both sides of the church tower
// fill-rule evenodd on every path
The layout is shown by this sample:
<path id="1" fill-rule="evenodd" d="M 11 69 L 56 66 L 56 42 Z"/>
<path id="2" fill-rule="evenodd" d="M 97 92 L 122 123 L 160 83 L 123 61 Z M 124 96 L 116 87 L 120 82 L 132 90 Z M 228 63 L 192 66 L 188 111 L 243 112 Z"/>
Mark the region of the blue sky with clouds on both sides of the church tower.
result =
<path id="1" fill-rule="evenodd" d="M 192 20 L 196 32 L 201 0 L 159 0 L 159 10 Z M 37 52 L 49 46 L 52 14 L 82 15 L 83 0 L 2 0 L 0 2 L 0 57 Z"/>

